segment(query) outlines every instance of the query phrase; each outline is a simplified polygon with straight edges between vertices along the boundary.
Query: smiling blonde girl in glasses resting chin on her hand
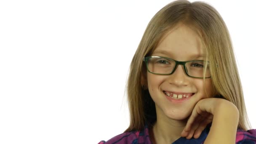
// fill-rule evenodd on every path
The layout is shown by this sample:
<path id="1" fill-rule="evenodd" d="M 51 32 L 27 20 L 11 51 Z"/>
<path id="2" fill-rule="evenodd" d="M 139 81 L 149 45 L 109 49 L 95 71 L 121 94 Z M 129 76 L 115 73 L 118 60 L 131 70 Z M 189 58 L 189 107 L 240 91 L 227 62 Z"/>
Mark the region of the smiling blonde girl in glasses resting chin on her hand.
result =
<path id="1" fill-rule="evenodd" d="M 256 143 L 227 27 L 178 0 L 149 22 L 128 78 L 130 126 L 99 144 Z"/>

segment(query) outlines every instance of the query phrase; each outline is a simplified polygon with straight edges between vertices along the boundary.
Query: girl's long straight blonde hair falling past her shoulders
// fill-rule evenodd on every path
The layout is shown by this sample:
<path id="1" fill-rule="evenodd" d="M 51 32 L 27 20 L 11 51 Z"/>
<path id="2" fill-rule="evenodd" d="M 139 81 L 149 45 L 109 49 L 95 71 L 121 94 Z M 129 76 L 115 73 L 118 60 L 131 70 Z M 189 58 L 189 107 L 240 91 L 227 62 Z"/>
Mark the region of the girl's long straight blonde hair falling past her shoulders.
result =
<path id="1" fill-rule="evenodd" d="M 130 125 L 125 132 L 141 131 L 146 124 L 152 125 L 156 121 L 155 103 L 141 84 L 141 78 L 147 72 L 143 58 L 149 56 L 163 35 L 180 22 L 195 28 L 201 35 L 205 57 L 210 61 L 215 91 L 212 97 L 227 99 L 235 104 L 240 112 L 238 128 L 244 131 L 251 129 L 232 42 L 223 19 L 207 3 L 177 0 L 166 5 L 151 19 L 131 61 L 126 87 Z"/>

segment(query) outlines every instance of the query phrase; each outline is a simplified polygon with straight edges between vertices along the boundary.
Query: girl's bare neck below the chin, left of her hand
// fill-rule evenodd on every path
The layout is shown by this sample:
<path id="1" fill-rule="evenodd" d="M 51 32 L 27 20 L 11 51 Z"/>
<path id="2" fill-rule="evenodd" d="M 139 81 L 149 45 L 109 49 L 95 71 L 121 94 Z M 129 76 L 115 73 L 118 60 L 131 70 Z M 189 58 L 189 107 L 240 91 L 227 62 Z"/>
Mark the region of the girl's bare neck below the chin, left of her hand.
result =
<path id="1" fill-rule="evenodd" d="M 156 107 L 156 111 L 158 111 Z M 185 120 L 172 120 L 163 112 L 157 112 L 157 121 L 150 130 L 150 138 L 153 144 L 171 144 L 181 137 L 181 132 L 186 126 Z M 161 115 L 162 114 L 162 115 Z"/>

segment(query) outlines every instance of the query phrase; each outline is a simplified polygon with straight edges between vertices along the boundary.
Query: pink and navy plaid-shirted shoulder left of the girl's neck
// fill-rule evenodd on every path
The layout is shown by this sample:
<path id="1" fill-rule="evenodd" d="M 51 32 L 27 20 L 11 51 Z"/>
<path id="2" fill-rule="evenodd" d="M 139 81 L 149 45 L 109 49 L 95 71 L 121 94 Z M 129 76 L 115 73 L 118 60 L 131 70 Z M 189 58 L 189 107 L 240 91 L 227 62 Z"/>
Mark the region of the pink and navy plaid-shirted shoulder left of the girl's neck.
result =
<path id="1" fill-rule="evenodd" d="M 146 126 L 143 131 L 121 133 L 108 141 L 100 141 L 98 144 L 151 144 L 151 141 Z"/>

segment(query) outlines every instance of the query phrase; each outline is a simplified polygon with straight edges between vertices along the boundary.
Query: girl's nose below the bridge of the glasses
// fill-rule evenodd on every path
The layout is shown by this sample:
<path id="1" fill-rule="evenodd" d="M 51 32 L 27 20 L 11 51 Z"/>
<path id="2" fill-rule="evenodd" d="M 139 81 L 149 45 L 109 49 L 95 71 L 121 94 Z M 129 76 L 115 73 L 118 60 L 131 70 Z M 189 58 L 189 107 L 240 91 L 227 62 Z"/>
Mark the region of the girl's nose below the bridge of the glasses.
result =
<path id="1" fill-rule="evenodd" d="M 178 65 L 173 74 L 168 76 L 168 83 L 177 86 L 184 86 L 188 84 L 187 75 L 182 65 Z"/>

